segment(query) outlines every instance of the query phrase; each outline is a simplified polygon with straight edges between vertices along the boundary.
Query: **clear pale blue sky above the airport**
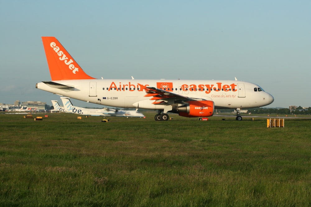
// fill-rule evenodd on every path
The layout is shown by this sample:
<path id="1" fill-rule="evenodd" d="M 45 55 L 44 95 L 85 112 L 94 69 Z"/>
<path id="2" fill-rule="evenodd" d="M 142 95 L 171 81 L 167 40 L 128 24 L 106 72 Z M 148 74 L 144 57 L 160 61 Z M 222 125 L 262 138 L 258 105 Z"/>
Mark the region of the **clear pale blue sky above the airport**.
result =
<path id="1" fill-rule="evenodd" d="M 2 103 L 60 101 L 35 88 L 51 80 L 41 36 L 55 36 L 95 78 L 237 77 L 272 94 L 267 107 L 311 106 L 309 0 L 12 0 L 0 20 Z"/>

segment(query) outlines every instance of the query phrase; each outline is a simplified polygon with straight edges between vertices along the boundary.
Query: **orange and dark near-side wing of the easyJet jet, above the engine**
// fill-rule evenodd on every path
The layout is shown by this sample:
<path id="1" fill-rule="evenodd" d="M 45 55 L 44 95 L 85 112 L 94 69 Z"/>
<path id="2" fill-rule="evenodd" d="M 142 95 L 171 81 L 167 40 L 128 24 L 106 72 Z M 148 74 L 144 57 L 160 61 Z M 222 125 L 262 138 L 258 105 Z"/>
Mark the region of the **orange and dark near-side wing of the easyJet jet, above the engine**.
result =
<path id="1" fill-rule="evenodd" d="M 196 101 L 195 99 L 182 96 L 176 93 L 172 93 L 169 91 L 161 90 L 159 88 L 146 87 L 144 88 L 144 90 L 147 93 L 144 97 L 151 97 L 150 100 L 155 100 L 154 102 L 152 102 L 152 104 L 160 104 L 160 103 L 174 104 L 185 101 Z"/>

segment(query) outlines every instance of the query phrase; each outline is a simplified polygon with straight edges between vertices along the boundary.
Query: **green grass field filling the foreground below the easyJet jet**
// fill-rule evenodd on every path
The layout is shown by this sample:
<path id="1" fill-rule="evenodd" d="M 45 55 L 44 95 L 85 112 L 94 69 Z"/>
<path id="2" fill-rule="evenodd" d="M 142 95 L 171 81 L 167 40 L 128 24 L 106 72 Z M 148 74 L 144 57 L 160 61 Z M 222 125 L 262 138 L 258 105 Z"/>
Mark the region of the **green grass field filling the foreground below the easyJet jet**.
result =
<path id="1" fill-rule="evenodd" d="M 311 206 L 311 119 L 48 115 L 0 114 L 0 206 Z"/>

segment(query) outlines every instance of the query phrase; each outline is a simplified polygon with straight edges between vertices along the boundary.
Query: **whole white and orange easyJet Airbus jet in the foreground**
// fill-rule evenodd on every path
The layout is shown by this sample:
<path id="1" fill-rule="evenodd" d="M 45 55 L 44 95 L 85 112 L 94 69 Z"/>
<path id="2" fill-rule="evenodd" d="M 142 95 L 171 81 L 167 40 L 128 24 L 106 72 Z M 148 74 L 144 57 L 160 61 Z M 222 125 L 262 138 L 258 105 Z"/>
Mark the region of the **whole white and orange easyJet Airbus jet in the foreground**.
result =
<path id="1" fill-rule="evenodd" d="M 212 116 L 214 109 L 266 106 L 274 101 L 254 83 L 238 80 L 138 80 L 95 79 L 87 75 L 55 37 L 42 37 L 52 81 L 36 88 L 81 101 L 121 108 L 158 110 L 155 120 L 169 119 L 167 112 L 185 117 Z"/>

